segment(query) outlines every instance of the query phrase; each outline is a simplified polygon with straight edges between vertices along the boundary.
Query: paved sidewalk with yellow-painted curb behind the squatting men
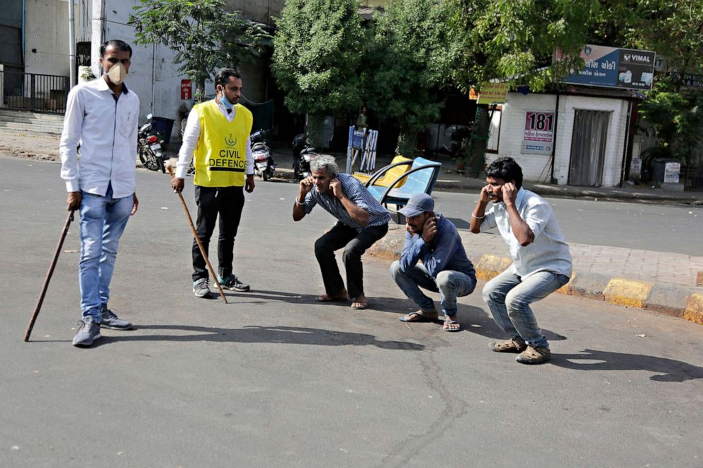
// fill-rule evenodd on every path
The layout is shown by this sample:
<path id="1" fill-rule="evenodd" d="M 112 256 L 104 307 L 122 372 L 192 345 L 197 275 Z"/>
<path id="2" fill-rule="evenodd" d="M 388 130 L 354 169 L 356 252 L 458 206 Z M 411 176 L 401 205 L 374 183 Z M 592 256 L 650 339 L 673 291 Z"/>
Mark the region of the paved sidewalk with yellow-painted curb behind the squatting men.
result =
<path id="1" fill-rule="evenodd" d="M 476 275 L 490 280 L 512 264 L 497 234 L 459 235 Z M 393 224 L 372 255 L 400 258 L 405 228 Z M 703 257 L 569 243 L 573 275 L 558 292 L 677 316 L 703 324 Z"/>

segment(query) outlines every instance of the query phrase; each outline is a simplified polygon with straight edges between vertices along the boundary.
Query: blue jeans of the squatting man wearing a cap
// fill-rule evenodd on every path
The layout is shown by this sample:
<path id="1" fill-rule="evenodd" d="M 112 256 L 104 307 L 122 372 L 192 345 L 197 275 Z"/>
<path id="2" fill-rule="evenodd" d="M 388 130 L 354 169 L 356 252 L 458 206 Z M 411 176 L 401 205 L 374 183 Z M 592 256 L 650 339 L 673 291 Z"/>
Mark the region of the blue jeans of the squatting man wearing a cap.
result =
<path id="1" fill-rule="evenodd" d="M 456 315 L 456 298 L 470 295 L 476 288 L 476 277 L 461 273 L 460 271 L 444 270 L 437 274 L 437 279 L 427 273 L 424 266 L 418 263 L 409 271 L 400 270 L 400 262 L 394 261 L 390 265 L 390 276 L 395 284 L 400 287 L 405 295 L 415 301 L 417 307 L 424 312 L 434 310 L 434 301 L 424 295 L 420 287 L 439 292 L 442 298 L 442 312 L 446 316 Z"/>

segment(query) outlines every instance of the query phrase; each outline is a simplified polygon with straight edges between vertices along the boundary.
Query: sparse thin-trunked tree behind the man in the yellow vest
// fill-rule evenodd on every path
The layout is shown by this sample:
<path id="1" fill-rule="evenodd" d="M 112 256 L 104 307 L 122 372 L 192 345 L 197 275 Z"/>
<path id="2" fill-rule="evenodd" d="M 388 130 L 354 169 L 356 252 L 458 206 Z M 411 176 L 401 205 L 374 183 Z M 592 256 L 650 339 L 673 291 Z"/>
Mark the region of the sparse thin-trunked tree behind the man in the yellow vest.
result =
<path id="1" fill-rule="evenodd" d="M 269 35 L 225 11 L 224 0 L 141 0 L 130 16 L 137 44 L 164 44 L 176 52 L 178 71 L 196 83 L 198 101 L 205 99 L 205 81 L 220 67 L 237 68 L 259 55 Z"/>

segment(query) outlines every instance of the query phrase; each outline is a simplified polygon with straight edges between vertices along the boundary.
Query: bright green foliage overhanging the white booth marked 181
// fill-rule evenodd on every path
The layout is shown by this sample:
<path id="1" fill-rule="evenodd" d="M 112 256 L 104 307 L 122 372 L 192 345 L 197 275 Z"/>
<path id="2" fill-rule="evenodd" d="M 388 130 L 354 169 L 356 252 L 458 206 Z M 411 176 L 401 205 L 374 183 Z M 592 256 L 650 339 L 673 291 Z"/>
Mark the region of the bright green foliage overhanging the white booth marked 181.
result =
<path id="1" fill-rule="evenodd" d="M 583 66 L 579 53 L 598 0 L 449 0 L 459 47 L 452 78 L 462 89 L 490 79 L 542 91 Z M 559 47 L 566 59 L 552 63 Z"/>

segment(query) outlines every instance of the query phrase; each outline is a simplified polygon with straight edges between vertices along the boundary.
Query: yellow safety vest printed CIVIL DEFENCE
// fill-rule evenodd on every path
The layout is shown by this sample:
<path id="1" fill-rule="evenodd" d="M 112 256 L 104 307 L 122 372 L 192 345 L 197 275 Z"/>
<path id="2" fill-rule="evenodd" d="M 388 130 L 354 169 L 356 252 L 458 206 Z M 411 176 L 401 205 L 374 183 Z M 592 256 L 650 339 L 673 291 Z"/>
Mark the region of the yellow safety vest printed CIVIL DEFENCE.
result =
<path id="1" fill-rule="evenodd" d="M 196 176 L 201 187 L 242 187 L 247 166 L 247 138 L 254 118 L 241 104 L 233 109 L 235 118 L 228 121 L 214 99 L 196 104 L 193 110 L 200 118 L 200 138 L 193 156 Z"/>

